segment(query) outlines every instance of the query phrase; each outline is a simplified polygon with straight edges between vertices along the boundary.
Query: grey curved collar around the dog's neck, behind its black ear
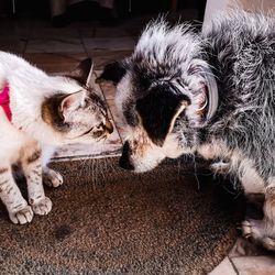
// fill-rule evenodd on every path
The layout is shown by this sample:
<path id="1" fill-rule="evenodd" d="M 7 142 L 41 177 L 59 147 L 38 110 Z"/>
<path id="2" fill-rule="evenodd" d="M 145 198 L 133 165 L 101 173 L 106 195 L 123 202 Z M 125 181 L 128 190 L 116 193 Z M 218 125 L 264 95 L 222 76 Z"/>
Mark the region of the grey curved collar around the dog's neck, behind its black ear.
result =
<path id="1" fill-rule="evenodd" d="M 205 117 L 205 120 L 210 120 L 217 111 L 219 94 L 215 75 L 210 67 L 202 63 L 191 65 L 188 73 L 189 75 L 198 76 L 200 79 L 198 90 L 196 90 L 196 100 L 198 105 L 197 113 Z M 205 109 L 207 112 L 205 113 Z"/>

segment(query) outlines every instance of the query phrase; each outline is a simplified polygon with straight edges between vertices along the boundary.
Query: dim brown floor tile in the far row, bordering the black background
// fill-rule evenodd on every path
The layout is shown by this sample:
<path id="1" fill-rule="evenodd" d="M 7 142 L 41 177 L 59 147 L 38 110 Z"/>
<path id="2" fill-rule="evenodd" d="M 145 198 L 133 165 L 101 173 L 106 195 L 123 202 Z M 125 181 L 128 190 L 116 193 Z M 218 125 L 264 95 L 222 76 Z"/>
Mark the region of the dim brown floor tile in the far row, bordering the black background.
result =
<path id="1" fill-rule="evenodd" d="M 26 53 L 85 53 L 80 38 L 30 40 Z"/>

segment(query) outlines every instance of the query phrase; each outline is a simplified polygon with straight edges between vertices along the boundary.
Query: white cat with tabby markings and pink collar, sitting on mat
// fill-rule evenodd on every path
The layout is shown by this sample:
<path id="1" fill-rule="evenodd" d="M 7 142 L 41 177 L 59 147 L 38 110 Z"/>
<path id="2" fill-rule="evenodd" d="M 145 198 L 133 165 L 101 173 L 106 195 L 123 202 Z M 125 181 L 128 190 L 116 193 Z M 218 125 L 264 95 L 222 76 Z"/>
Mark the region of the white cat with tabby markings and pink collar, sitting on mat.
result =
<path id="1" fill-rule="evenodd" d="M 34 213 L 51 211 L 42 175 L 54 187 L 63 183 L 46 166 L 55 146 L 98 142 L 112 132 L 105 103 L 87 87 L 91 67 L 85 59 L 70 74 L 50 76 L 0 52 L 0 198 L 12 222 L 23 224 Z M 29 204 L 12 176 L 13 164 L 26 178 Z"/>

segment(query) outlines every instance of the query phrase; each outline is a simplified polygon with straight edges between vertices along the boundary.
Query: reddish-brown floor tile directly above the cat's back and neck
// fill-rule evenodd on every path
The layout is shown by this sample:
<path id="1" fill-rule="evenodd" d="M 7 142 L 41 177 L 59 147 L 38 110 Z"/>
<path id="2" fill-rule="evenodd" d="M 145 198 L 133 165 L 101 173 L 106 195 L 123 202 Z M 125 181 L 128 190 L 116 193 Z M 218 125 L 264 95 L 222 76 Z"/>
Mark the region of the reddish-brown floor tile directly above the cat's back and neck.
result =
<path id="1" fill-rule="evenodd" d="M 59 73 L 73 70 L 80 61 L 87 58 L 87 54 L 69 53 L 26 53 L 24 57 L 47 73 Z"/>

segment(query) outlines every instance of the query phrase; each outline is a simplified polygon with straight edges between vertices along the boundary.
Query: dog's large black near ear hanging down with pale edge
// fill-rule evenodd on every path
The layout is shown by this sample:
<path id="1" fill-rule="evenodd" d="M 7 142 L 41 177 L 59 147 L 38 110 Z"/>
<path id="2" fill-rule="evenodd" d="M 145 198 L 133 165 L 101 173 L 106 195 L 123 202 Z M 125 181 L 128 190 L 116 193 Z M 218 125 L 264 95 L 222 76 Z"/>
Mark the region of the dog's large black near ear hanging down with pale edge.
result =
<path id="1" fill-rule="evenodd" d="M 187 96 L 176 95 L 168 85 L 161 85 L 136 101 L 136 110 L 150 139 L 162 146 L 177 117 L 189 103 Z"/>

